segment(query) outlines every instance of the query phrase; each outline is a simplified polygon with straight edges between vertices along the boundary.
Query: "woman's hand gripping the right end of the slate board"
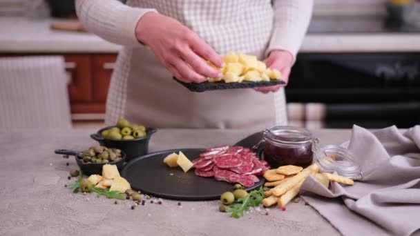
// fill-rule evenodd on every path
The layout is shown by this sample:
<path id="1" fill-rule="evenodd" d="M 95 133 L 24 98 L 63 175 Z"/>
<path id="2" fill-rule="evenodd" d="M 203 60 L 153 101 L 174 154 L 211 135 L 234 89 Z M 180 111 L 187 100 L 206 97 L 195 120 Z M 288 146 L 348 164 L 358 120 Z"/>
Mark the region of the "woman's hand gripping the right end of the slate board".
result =
<path id="1" fill-rule="evenodd" d="M 292 69 L 293 64 L 292 54 L 285 50 L 274 50 L 270 52 L 269 56 L 264 60 L 264 62 L 267 65 L 267 67 L 271 69 L 277 69 L 278 71 L 280 71 L 281 79 L 286 83 L 277 86 L 255 88 L 255 90 L 264 93 L 276 92 L 281 87 L 287 86 L 287 82 L 289 81 L 290 69 Z"/>

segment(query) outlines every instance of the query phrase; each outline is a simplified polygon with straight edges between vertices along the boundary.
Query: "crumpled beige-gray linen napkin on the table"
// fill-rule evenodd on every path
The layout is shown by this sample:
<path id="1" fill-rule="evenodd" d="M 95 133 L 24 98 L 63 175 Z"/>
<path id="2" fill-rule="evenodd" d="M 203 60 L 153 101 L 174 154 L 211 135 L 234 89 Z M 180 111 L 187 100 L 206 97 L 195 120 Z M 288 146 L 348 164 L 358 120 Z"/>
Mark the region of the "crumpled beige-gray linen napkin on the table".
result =
<path id="1" fill-rule="evenodd" d="M 354 126 L 348 146 L 363 179 L 327 189 L 309 177 L 300 195 L 343 235 L 410 235 L 420 228 L 420 126 L 370 132 Z M 418 233 L 418 232 L 417 232 Z"/>

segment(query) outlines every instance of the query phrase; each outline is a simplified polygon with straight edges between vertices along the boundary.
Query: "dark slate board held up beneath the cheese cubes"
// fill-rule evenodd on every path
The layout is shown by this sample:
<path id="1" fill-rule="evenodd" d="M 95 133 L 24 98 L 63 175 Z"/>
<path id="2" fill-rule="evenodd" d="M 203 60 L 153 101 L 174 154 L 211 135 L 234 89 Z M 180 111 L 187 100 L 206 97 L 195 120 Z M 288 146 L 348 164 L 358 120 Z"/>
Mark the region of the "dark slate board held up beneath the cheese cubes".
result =
<path id="1" fill-rule="evenodd" d="M 283 80 L 271 80 L 271 81 L 260 81 L 260 82 L 249 82 L 243 81 L 241 83 L 225 83 L 225 82 L 202 82 L 202 83 L 185 83 L 175 77 L 175 81 L 181 83 L 183 86 L 188 88 L 193 92 L 204 92 L 207 90 L 224 90 L 224 89 L 233 89 L 233 88 L 256 88 L 256 87 L 267 87 L 267 86 L 276 86 L 278 84 L 285 84 Z"/>

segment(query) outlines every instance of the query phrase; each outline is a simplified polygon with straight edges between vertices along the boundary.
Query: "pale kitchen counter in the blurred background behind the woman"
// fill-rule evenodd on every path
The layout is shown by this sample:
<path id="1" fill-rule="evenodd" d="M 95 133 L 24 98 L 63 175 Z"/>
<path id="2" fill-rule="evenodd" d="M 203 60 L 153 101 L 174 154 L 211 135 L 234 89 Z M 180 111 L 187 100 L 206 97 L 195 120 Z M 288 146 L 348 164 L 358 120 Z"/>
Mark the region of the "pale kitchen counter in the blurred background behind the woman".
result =
<path id="1" fill-rule="evenodd" d="M 0 32 L 2 32 L 0 52 L 116 53 L 122 48 L 122 46 L 109 43 L 86 32 L 52 31 L 50 23 L 53 21 L 58 20 L 0 17 Z M 355 24 L 354 26 L 363 24 L 361 21 L 352 21 L 352 23 Z M 352 28 L 352 23 L 345 23 L 345 26 Z M 343 34 L 334 32 L 341 25 L 332 20 L 316 21 L 312 25 L 321 32 L 311 32 L 309 29 L 309 34 L 305 37 L 300 52 L 420 52 L 420 43 L 418 43 L 420 33 L 418 32 L 350 32 Z M 330 30 L 332 31 L 330 32 Z"/>

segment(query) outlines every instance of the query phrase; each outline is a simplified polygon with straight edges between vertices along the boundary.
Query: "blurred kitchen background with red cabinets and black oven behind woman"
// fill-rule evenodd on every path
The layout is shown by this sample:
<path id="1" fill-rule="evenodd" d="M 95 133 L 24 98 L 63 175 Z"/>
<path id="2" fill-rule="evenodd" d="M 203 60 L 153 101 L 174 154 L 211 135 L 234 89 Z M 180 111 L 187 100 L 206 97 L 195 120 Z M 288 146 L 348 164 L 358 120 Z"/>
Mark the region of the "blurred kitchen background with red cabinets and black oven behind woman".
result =
<path id="1" fill-rule="evenodd" d="M 0 127 L 102 126 L 120 46 L 86 32 L 74 11 L 72 0 L 0 0 Z M 295 126 L 420 124 L 420 1 L 315 0 L 286 94 Z"/>

